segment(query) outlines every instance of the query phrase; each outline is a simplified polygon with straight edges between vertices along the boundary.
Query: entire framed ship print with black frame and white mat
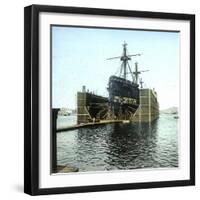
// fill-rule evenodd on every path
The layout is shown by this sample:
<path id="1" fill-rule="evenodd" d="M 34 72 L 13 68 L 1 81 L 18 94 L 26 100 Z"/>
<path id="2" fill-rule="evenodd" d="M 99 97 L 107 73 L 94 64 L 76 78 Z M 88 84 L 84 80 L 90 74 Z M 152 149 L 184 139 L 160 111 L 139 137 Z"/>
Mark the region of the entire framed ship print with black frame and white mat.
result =
<path id="1" fill-rule="evenodd" d="M 195 16 L 25 8 L 24 191 L 195 184 Z"/>

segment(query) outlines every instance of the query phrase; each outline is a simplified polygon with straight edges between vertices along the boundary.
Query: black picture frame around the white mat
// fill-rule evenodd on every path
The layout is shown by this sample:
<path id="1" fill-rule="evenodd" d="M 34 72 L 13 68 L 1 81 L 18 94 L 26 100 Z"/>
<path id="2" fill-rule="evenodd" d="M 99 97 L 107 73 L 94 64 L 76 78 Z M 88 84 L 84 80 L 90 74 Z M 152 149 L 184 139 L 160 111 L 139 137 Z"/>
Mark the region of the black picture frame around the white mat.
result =
<path id="1" fill-rule="evenodd" d="M 78 187 L 39 188 L 39 14 L 187 20 L 190 23 L 190 179 Z M 30 195 L 94 192 L 195 185 L 195 15 L 83 7 L 31 5 L 24 9 L 24 192 Z"/>

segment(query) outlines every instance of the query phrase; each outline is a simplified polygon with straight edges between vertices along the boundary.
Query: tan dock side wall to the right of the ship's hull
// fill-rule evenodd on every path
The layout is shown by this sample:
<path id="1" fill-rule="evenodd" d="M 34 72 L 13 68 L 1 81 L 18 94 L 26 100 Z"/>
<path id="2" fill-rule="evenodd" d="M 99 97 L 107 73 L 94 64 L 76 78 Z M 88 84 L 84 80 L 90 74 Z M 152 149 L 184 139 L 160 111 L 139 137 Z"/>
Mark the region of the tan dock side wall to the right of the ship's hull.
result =
<path id="1" fill-rule="evenodd" d="M 140 106 L 132 121 L 151 122 L 159 116 L 157 94 L 151 89 L 140 89 Z"/>

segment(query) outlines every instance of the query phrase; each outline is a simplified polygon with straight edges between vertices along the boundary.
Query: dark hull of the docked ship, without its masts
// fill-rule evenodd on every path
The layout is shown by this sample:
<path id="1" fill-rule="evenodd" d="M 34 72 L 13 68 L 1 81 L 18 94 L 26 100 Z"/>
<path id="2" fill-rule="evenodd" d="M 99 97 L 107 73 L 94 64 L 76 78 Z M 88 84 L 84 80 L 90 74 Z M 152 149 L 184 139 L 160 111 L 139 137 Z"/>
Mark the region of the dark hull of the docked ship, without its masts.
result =
<path id="1" fill-rule="evenodd" d="M 117 119 L 130 119 L 139 107 L 138 84 L 117 76 L 109 79 L 109 103 Z"/>

